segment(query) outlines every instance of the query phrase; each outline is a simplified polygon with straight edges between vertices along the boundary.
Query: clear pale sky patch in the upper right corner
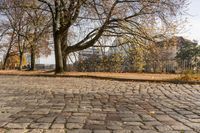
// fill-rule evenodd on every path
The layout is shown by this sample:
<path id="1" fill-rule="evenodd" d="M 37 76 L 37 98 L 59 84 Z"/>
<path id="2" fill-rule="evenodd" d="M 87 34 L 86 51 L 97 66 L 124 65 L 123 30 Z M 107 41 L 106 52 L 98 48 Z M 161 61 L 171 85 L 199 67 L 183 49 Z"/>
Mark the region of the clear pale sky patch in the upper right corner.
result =
<path id="1" fill-rule="evenodd" d="M 179 34 L 190 40 L 197 40 L 200 43 L 200 0 L 190 0 L 187 13 L 187 24 Z"/>

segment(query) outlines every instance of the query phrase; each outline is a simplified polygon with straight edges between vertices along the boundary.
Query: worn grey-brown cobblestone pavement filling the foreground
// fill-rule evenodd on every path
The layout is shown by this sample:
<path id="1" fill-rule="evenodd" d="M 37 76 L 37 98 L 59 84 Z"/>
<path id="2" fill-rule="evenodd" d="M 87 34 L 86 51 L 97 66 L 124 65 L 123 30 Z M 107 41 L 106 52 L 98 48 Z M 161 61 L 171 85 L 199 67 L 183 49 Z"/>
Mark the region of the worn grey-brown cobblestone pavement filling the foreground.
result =
<path id="1" fill-rule="evenodd" d="M 200 85 L 0 76 L 0 133 L 200 132 Z"/>

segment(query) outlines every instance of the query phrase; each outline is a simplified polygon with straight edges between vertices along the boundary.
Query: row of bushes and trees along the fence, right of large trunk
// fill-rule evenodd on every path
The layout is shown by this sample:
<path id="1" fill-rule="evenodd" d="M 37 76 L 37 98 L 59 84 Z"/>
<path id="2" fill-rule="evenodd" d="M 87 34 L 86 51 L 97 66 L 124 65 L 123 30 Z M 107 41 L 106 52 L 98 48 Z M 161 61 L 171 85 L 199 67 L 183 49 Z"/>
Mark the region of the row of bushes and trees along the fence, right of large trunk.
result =
<path id="1" fill-rule="evenodd" d="M 182 37 L 176 37 L 179 40 Z M 75 71 L 89 72 L 182 72 L 200 70 L 200 45 L 192 41 L 162 41 L 146 46 L 127 45 L 107 55 L 93 54 L 74 64 Z M 183 39 L 185 40 L 185 39 Z M 176 42 L 179 42 L 176 44 Z M 165 43 L 165 44 L 163 44 Z M 121 52 L 123 51 L 123 52 Z"/>

